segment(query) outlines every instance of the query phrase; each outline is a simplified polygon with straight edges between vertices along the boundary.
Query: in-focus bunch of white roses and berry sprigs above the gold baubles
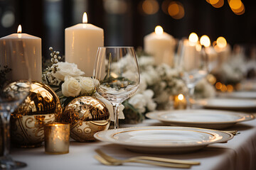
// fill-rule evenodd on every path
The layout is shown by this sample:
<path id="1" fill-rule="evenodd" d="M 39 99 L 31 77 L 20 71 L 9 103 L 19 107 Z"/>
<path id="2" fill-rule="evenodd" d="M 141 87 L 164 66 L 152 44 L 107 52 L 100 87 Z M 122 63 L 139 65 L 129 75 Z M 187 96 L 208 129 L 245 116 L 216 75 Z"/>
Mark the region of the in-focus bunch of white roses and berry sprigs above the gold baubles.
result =
<path id="1" fill-rule="evenodd" d="M 43 72 L 43 81 L 49 84 L 58 94 L 60 102 L 66 106 L 78 96 L 92 96 L 95 94 L 95 86 L 91 77 L 83 77 L 85 74 L 74 63 L 59 62 L 60 52 L 51 51 L 51 66 Z"/>

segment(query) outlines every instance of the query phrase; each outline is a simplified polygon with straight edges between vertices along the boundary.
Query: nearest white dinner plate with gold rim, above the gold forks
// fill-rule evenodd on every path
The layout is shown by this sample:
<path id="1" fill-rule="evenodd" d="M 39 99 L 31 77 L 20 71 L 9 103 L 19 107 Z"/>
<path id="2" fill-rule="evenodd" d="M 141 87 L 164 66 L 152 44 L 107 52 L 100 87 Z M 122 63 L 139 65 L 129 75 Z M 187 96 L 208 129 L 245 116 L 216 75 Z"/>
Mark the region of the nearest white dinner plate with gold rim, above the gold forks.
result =
<path id="1" fill-rule="evenodd" d="M 233 138 L 228 132 L 203 128 L 150 126 L 104 130 L 94 137 L 144 153 L 183 153 L 202 149 Z"/>

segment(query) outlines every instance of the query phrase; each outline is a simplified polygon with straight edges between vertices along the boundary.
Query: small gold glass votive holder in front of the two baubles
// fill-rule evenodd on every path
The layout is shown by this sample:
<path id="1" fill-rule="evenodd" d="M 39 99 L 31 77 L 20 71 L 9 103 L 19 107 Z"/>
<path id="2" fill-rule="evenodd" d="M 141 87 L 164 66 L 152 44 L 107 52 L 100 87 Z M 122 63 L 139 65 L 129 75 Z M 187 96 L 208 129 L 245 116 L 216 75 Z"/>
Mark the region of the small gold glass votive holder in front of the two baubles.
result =
<path id="1" fill-rule="evenodd" d="M 68 154 L 70 144 L 69 123 L 48 123 L 44 125 L 46 154 Z"/>

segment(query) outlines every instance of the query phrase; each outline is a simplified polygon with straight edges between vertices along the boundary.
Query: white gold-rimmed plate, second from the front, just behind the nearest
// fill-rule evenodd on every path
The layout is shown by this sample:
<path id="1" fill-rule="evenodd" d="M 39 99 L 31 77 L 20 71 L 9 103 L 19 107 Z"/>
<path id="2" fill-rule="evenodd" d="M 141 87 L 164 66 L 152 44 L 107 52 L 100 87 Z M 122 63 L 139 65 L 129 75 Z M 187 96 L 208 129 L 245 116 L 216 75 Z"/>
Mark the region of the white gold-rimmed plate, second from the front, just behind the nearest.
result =
<path id="1" fill-rule="evenodd" d="M 218 110 L 176 110 L 146 113 L 147 118 L 159 120 L 166 125 L 181 125 L 198 128 L 223 129 L 235 123 L 252 120 L 247 113 Z"/>

